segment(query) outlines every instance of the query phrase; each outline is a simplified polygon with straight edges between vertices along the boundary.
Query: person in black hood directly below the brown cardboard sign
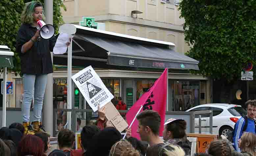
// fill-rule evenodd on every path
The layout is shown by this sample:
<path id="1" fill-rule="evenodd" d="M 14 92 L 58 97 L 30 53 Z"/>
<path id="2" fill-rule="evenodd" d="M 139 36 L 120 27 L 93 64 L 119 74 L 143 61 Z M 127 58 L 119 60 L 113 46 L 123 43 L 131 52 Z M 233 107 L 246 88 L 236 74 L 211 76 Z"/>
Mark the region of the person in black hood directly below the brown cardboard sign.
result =
<path id="1" fill-rule="evenodd" d="M 121 133 L 114 127 L 107 127 L 92 137 L 86 156 L 109 156 L 111 147 L 122 139 Z"/>

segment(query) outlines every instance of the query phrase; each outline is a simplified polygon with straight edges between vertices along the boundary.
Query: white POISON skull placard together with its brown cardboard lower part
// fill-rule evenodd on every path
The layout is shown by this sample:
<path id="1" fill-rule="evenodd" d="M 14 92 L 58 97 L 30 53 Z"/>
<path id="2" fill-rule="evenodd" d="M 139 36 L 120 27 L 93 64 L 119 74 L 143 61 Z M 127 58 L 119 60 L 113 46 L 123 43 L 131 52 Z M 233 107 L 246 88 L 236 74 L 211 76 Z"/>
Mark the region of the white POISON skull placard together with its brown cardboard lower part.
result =
<path id="1" fill-rule="evenodd" d="M 98 105 L 100 108 L 105 105 L 105 115 L 111 124 L 120 132 L 126 129 L 128 124 L 111 102 L 114 96 L 91 66 L 73 75 L 72 79 L 94 112 L 98 110 Z"/>

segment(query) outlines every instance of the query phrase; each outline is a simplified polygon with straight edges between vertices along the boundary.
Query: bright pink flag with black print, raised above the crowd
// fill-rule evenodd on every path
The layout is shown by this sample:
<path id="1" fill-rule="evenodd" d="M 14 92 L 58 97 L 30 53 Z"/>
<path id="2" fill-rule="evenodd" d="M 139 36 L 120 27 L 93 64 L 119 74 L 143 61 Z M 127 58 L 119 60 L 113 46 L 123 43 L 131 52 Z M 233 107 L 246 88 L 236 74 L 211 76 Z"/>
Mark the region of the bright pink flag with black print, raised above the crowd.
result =
<path id="1" fill-rule="evenodd" d="M 140 99 L 130 108 L 126 114 L 126 120 L 128 125 L 130 125 L 136 115 L 140 110 L 141 105 L 143 108 L 141 110 L 154 110 L 157 111 L 161 117 L 161 126 L 160 126 L 160 136 L 163 134 L 164 122 L 165 122 L 165 113 L 166 113 L 166 97 L 167 97 L 167 68 L 164 73 L 158 78 L 154 85 L 144 93 Z M 135 120 L 131 129 L 132 136 L 140 140 L 140 135 L 136 132 L 138 127 L 138 120 Z"/>

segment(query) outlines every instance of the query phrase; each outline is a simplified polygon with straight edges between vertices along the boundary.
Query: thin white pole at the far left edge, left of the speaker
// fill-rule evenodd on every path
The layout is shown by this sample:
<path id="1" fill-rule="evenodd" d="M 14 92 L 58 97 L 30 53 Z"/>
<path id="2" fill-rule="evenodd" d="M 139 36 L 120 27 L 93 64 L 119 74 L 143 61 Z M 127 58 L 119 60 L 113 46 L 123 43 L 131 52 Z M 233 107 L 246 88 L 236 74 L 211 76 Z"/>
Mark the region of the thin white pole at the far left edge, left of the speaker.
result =
<path id="1" fill-rule="evenodd" d="M 6 79 L 7 79 L 7 68 L 4 67 L 3 71 L 3 120 L 2 127 L 6 127 Z"/>

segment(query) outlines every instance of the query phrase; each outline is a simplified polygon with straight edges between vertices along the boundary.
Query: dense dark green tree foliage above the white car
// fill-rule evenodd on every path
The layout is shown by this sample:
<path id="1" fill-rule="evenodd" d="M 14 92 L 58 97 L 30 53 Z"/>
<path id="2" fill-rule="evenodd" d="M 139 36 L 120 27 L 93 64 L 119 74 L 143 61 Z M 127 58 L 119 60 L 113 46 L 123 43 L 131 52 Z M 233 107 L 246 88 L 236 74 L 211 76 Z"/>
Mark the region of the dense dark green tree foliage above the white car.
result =
<path id="1" fill-rule="evenodd" d="M 179 9 L 192 45 L 187 55 L 200 61 L 193 73 L 230 82 L 247 62 L 255 65 L 255 0 L 182 0 Z"/>

